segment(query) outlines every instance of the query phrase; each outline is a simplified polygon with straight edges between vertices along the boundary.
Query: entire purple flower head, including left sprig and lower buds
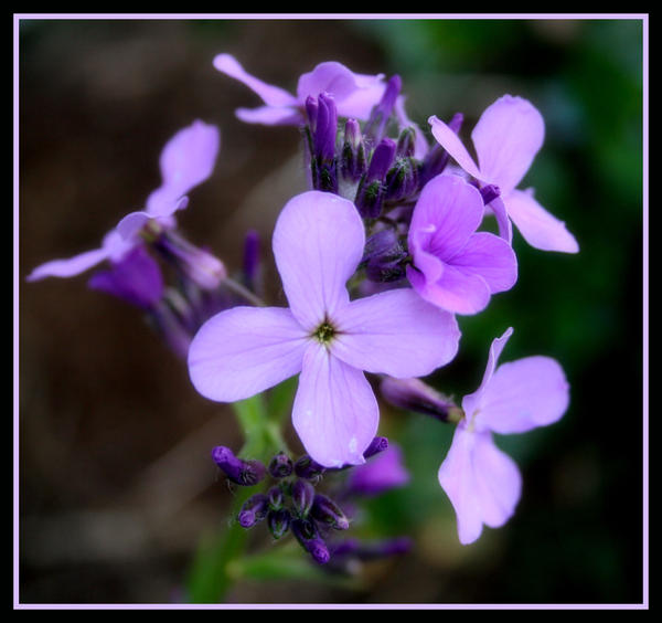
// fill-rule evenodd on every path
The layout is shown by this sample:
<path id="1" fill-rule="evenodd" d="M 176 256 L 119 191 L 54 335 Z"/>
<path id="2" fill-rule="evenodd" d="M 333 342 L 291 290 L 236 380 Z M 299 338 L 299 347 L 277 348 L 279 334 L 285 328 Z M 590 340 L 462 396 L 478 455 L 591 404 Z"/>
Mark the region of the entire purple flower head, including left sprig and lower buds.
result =
<path id="1" fill-rule="evenodd" d="M 286 203 L 273 235 L 287 307 L 268 306 L 255 294 L 255 234 L 246 239 L 241 286 L 177 228 L 186 193 L 214 168 L 218 130 L 202 122 L 166 145 L 162 184 L 145 210 L 125 217 L 100 249 L 43 264 L 29 279 L 73 276 L 107 261 L 90 287 L 148 310 L 186 358 L 195 389 L 211 400 L 247 399 L 298 374 L 292 423 L 306 468 L 319 468 L 318 476 L 362 466 L 371 454 L 380 411 L 365 374 L 380 376 L 386 400 L 457 425 L 439 483 L 456 510 L 460 540 L 476 540 L 483 525 L 503 525 L 520 498 L 521 477 L 492 433 L 558 420 L 568 404 L 563 370 L 546 357 L 496 368 L 509 329 L 492 344 L 481 387 L 461 405 L 420 378 L 455 358 L 456 315 L 483 312 L 493 295 L 515 285 L 513 223 L 536 249 L 579 250 L 532 189 L 516 188 L 543 145 L 542 115 L 521 97 L 499 98 L 471 133 L 474 161 L 459 137 L 462 115 L 448 124 L 431 116 L 428 141 L 407 117 L 397 75 L 386 80 L 321 63 L 291 94 L 248 74 L 228 54 L 216 56 L 214 66 L 263 101 L 239 108 L 239 119 L 298 126 L 303 137 L 309 190 Z M 177 287 L 164 284 L 149 252 L 175 267 Z M 277 456 L 267 469 L 223 446 L 214 458 L 239 485 L 256 484 L 267 471 L 280 478 L 246 503 L 242 526 L 266 519 L 275 538 L 290 530 L 318 562 L 328 558 L 321 527 L 343 530 L 346 518 L 314 492 L 300 463 Z M 392 471 L 384 473 L 391 483 Z"/>

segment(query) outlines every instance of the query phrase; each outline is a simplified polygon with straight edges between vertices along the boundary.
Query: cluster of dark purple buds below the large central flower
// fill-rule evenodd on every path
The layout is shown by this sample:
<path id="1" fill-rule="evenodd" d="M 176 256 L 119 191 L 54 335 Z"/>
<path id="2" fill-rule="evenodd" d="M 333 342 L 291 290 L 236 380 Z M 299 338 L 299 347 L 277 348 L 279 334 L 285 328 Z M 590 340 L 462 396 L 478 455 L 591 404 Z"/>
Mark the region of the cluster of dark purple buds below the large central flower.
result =
<path id="1" fill-rule="evenodd" d="M 389 452 L 385 452 L 387 450 Z M 338 532 L 349 529 L 350 518 L 349 513 L 345 513 L 333 497 L 346 500 L 352 495 L 376 495 L 408 479 L 408 475 L 399 465 L 399 455 L 391 453 L 392 450 L 388 448 L 386 437 L 373 440 L 363 456 L 369 460 L 382 455 L 383 458 L 375 460 L 375 469 L 372 469 L 370 464 L 329 468 L 307 454 L 292 460 L 285 452 L 277 453 L 265 465 L 259 461 L 239 458 L 226 446 L 214 447 L 212 458 L 227 479 L 237 485 L 254 486 L 266 477 L 274 481 L 269 488 L 252 495 L 243 504 L 236 517 L 243 528 L 253 528 L 264 521 L 276 540 L 289 531 L 312 560 L 324 564 L 329 562 L 333 552 L 341 557 L 340 563 L 350 558 L 363 557 L 367 560 L 371 552 L 373 558 L 378 557 L 382 550 L 383 556 L 402 551 L 403 548 L 391 547 L 389 541 L 377 546 L 361 543 L 356 539 L 341 540 L 337 537 Z M 363 468 L 365 472 L 362 474 Z M 333 497 L 328 492 L 318 490 L 325 474 L 340 472 L 348 473 L 349 476 L 344 488 L 338 490 Z M 352 547 L 349 547 L 349 543 Z"/>

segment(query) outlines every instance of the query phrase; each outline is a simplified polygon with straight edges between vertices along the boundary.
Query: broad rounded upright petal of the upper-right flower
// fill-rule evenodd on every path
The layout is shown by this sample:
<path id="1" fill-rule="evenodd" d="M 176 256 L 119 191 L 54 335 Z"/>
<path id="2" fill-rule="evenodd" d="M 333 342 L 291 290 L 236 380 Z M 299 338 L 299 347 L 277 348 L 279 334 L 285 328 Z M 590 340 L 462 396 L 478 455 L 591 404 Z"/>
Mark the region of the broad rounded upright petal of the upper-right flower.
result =
<path id="1" fill-rule="evenodd" d="M 542 147 L 545 122 L 531 102 L 504 95 L 485 108 L 471 138 L 481 179 L 495 183 L 506 196 L 520 183 Z"/>

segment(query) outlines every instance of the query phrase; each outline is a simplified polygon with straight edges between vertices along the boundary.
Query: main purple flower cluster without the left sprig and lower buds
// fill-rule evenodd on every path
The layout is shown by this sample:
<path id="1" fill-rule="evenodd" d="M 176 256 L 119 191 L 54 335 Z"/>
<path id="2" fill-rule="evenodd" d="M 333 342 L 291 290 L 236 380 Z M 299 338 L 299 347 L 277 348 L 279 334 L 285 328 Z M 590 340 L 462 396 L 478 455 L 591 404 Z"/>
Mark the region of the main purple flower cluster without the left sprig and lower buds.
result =
<path id="1" fill-rule="evenodd" d="M 436 144 L 428 144 L 406 115 L 399 76 L 322 63 L 301 76 L 295 97 L 227 54 L 214 64 L 265 103 L 237 110 L 241 119 L 302 127 L 311 190 L 287 203 L 274 232 L 289 309 L 235 308 L 210 320 L 189 353 L 193 383 L 232 401 L 300 372 L 295 427 L 313 460 L 332 467 L 363 462 L 378 418 L 363 372 L 382 374 L 386 399 L 457 424 L 439 483 L 460 540 L 476 540 L 483 524 L 503 525 L 521 481 L 492 433 L 558 420 L 568 403 L 563 370 L 532 357 L 494 371 L 509 329 L 461 408 L 417 377 L 455 357 L 456 314 L 482 312 L 515 284 L 512 223 L 540 250 L 579 250 L 531 189 L 516 189 L 542 147 L 542 115 L 510 95 L 489 106 L 471 134 L 477 165 L 458 136 L 461 114 L 448 124 L 430 117 Z M 488 217 L 499 234 L 481 229 Z M 352 299 L 346 284 L 363 279 L 377 294 Z"/>

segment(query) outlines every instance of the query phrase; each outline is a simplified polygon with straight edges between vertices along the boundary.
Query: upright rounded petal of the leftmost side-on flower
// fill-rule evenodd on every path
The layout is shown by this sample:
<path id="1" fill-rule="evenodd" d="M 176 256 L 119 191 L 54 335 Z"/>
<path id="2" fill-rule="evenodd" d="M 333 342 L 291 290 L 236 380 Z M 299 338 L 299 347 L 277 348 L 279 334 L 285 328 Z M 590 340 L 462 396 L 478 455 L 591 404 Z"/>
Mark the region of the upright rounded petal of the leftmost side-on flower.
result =
<path id="1" fill-rule="evenodd" d="M 161 187 L 147 200 L 152 217 L 167 217 L 182 208 L 181 199 L 206 180 L 218 154 L 218 128 L 201 120 L 178 131 L 161 152 Z"/>

